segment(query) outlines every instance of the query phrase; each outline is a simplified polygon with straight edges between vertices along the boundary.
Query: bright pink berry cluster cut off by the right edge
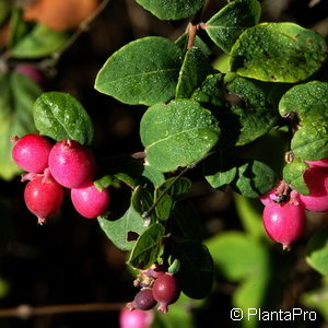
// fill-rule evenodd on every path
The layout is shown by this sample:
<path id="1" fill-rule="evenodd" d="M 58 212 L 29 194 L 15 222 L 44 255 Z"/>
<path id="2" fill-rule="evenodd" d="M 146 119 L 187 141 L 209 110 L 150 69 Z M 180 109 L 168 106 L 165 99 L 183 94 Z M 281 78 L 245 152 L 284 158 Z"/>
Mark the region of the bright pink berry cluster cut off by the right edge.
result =
<path id="1" fill-rule="evenodd" d="M 260 197 L 265 204 L 262 219 L 268 236 L 283 245 L 284 249 L 300 238 L 305 227 L 305 211 L 328 211 L 328 159 L 307 161 L 304 181 L 309 195 L 302 195 L 281 181 L 279 186 Z"/>

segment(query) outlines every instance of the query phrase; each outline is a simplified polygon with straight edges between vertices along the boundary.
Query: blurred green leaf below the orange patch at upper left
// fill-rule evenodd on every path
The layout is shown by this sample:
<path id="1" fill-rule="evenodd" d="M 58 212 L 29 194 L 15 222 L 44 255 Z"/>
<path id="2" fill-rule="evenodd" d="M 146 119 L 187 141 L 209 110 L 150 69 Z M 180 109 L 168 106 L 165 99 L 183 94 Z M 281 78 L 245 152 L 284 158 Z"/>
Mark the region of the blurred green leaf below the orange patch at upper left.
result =
<path id="1" fill-rule="evenodd" d="M 52 31 L 37 24 L 10 49 L 14 58 L 42 58 L 60 50 L 70 38 L 68 32 Z"/>

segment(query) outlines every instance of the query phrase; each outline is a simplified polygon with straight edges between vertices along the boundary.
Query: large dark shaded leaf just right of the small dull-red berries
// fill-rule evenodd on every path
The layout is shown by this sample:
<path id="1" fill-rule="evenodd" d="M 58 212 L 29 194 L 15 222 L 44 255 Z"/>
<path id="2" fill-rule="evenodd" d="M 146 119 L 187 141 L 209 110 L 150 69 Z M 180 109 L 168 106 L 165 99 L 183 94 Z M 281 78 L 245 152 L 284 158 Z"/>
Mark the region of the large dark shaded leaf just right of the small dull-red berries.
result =
<path id="1" fill-rule="evenodd" d="M 174 243 L 173 257 L 180 261 L 177 277 L 183 292 L 191 298 L 206 297 L 213 283 L 213 260 L 207 246 L 197 241 Z"/>

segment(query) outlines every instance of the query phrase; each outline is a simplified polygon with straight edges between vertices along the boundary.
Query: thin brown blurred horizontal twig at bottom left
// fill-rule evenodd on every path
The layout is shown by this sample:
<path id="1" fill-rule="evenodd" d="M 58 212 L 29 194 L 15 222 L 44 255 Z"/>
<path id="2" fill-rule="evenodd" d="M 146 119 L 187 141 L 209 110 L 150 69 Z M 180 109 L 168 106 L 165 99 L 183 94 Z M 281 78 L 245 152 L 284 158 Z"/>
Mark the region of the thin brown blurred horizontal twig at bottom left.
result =
<path id="1" fill-rule="evenodd" d="M 36 306 L 22 304 L 11 308 L 0 308 L 0 317 L 30 318 L 32 316 L 48 316 L 63 313 L 79 312 L 109 312 L 120 311 L 126 303 L 86 303 L 86 304 L 62 304 L 49 306 Z"/>

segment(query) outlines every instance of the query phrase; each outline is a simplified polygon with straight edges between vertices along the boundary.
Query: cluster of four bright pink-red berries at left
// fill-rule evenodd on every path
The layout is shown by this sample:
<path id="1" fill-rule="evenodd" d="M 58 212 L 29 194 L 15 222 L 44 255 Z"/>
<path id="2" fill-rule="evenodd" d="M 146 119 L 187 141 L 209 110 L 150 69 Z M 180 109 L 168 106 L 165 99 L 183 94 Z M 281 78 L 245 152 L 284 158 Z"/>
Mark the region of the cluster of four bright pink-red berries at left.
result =
<path id="1" fill-rule="evenodd" d="M 52 145 L 39 134 L 14 137 L 12 141 L 12 157 L 27 172 L 22 181 L 30 180 L 24 200 L 39 224 L 59 210 L 63 188 L 71 189 L 72 203 L 85 218 L 96 218 L 107 209 L 109 191 L 101 191 L 94 186 L 95 160 L 84 145 L 74 140 L 62 140 Z"/>

